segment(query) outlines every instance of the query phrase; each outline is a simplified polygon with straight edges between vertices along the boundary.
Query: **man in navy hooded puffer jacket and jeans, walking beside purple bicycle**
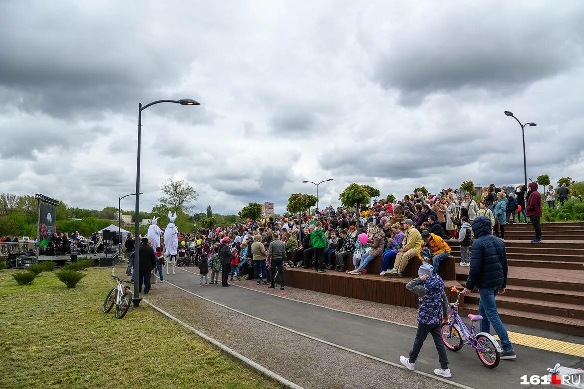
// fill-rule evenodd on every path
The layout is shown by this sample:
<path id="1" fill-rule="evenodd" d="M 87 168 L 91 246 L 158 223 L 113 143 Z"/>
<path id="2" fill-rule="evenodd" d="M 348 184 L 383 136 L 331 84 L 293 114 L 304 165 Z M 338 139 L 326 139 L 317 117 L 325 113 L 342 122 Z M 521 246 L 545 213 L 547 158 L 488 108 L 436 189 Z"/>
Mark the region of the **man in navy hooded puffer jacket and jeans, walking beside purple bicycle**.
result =
<path id="1" fill-rule="evenodd" d="M 536 183 L 534 185 L 537 186 Z M 476 286 L 481 300 L 478 313 L 482 316 L 481 332 L 491 333 L 491 324 L 501 341 L 501 359 L 515 359 L 509 335 L 497 311 L 495 297 L 505 293 L 507 286 L 507 253 L 505 243 L 491 235 L 491 221 L 479 216 L 472 222 L 475 240 L 471 247 L 471 266 L 463 294 L 468 296 Z"/>

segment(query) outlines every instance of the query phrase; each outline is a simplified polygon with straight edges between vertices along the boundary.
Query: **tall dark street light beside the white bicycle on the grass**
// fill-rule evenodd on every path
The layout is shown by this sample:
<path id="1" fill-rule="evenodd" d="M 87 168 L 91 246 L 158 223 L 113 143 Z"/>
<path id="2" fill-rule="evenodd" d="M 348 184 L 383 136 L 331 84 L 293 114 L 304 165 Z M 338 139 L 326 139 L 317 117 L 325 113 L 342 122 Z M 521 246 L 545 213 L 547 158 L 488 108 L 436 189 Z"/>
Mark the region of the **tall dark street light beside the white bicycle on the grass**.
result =
<path id="1" fill-rule="evenodd" d="M 136 164 L 136 192 L 140 193 L 140 141 L 142 130 L 142 111 L 158 103 L 176 103 L 180 105 L 200 105 L 193 99 L 180 100 L 157 100 L 142 107 L 142 103 L 138 103 L 138 162 Z M 136 221 L 134 228 L 134 298 L 132 299 L 134 307 L 140 306 L 140 223 L 138 217 L 140 216 L 140 196 L 136 196 Z"/>

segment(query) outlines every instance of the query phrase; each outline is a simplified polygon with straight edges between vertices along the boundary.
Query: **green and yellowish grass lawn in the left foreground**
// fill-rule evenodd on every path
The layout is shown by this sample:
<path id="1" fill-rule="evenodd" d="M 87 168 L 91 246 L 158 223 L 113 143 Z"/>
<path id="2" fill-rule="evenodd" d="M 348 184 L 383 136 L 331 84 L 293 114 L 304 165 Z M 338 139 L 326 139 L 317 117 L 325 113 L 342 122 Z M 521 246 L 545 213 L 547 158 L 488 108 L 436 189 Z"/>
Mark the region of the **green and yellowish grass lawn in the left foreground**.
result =
<path id="1" fill-rule="evenodd" d="M 111 269 L 76 289 L 52 272 L 18 286 L 14 272 L 0 272 L 0 388 L 280 387 L 146 304 L 103 313 Z"/>

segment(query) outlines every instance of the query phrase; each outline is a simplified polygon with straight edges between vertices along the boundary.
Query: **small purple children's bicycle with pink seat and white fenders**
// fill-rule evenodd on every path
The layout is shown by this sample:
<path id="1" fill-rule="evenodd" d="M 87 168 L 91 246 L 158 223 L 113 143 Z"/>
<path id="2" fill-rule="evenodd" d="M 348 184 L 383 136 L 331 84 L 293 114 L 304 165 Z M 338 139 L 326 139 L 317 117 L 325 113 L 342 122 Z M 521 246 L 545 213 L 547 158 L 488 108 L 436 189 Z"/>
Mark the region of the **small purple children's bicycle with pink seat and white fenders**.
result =
<path id="1" fill-rule="evenodd" d="M 444 346 L 451 351 L 458 351 L 468 343 L 475 349 L 482 364 L 489 367 L 489 369 L 495 369 L 499 364 L 501 347 L 491 334 L 477 332 L 475 329 L 475 321 L 481 320 L 481 315 L 468 315 L 468 318 L 472 321 L 470 329 L 464 324 L 463 319 L 458 315 L 458 301 L 460 301 L 461 294 L 463 293 L 458 293 L 456 303 L 448 305 L 449 321 L 442 324 Z"/>

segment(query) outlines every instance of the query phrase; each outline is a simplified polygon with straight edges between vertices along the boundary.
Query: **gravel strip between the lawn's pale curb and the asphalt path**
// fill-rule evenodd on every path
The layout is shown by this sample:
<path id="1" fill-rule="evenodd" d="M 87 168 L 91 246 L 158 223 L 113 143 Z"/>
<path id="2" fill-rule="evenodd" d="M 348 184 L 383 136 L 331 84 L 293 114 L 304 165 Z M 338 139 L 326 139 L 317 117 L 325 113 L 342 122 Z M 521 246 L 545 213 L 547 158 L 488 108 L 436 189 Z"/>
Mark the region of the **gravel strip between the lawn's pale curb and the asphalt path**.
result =
<path id="1" fill-rule="evenodd" d="M 123 269 L 116 268 L 116 273 L 121 275 Z M 148 300 L 204 334 L 307 389 L 453 388 L 447 383 L 246 317 L 169 284 L 157 283 L 153 286 Z"/>

